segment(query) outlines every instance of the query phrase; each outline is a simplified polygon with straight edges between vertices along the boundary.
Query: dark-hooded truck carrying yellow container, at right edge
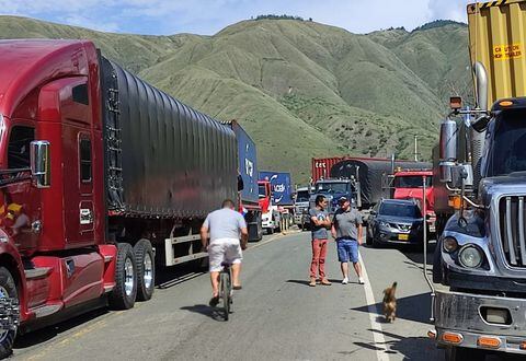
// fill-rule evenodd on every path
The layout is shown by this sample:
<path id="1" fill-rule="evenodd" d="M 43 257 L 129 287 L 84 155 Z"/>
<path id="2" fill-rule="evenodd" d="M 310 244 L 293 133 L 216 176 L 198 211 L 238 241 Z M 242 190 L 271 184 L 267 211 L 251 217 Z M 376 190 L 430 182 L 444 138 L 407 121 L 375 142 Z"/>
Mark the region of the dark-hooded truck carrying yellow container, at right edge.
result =
<path id="1" fill-rule="evenodd" d="M 435 152 L 434 329 L 450 360 L 526 356 L 526 1 L 467 5 L 476 104 Z"/>

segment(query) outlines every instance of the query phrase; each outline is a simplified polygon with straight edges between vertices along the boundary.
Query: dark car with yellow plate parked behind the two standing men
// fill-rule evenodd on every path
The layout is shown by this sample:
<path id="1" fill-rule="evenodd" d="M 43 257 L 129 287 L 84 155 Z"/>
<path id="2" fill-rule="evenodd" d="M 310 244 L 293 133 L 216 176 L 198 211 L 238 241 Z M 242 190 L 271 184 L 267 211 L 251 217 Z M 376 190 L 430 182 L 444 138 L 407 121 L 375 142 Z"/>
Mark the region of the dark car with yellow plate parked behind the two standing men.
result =
<path id="1" fill-rule="evenodd" d="M 422 212 L 414 200 L 382 199 L 370 211 L 367 244 L 423 244 Z"/>

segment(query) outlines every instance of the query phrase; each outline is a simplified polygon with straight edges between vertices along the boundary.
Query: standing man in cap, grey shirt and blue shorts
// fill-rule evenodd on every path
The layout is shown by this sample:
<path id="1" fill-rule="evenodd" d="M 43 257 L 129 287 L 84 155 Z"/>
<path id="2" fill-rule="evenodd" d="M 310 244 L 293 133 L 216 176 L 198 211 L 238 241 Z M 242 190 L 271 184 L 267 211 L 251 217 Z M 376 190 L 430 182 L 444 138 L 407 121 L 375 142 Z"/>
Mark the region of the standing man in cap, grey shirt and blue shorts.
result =
<path id="1" fill-rule="evenodd" d="M 358 283 L 364 284 L 362 267 L 358 261 L 358 247 L 362 245 L 362 214 L 356 208 L 351 207 L 347 198 L 339 199 L 340 208 L 334 213 L 331 233 L 336 238 L 338 260 L 342 268 L 343 284 L 348 283 L 348 261 L 358 276 Z"/>

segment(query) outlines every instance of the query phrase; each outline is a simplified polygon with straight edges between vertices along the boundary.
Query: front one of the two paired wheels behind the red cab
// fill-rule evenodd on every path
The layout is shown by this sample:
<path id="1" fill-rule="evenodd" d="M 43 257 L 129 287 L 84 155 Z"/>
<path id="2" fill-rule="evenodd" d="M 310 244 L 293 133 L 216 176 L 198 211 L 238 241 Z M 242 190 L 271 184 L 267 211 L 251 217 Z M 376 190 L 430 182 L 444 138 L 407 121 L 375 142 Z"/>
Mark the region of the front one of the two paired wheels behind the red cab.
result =
<path id="1" fill-rule="evenodd" d="M 115 288 L 110 293 L 110 306 L 115 310 L 128 310 L 135 304 L 137 296 L 137 265 L 132 245 L 117 244 L 117 261 L 115 265 Z"/>

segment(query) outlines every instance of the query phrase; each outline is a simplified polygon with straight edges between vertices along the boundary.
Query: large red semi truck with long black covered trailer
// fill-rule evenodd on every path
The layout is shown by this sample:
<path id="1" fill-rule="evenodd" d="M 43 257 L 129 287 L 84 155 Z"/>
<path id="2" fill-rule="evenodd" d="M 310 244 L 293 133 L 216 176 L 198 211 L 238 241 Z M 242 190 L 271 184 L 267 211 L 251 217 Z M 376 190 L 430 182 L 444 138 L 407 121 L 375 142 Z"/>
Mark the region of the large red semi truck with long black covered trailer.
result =
<path id="1" fill-rule="evenodd" d="M 0 357 L 16 331 L 151 298 L 236 199 L 231 128 L 87 40 L 0 42 Z M 157 257 L 156 257 L 157 253 Z"/>

